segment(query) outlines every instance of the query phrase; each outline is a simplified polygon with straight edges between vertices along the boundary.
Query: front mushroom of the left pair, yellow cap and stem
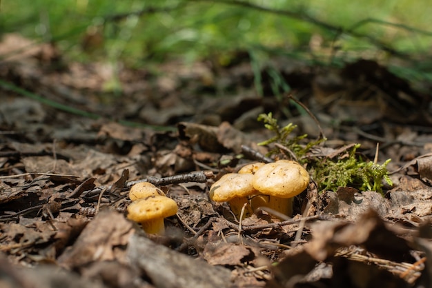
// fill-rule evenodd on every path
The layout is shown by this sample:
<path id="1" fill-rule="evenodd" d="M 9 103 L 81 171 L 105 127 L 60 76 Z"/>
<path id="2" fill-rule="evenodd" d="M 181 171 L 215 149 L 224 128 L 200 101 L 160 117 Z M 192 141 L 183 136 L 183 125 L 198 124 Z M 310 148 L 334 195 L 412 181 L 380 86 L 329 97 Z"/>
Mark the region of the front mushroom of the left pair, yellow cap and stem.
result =
<path id="1" fill-rule="evenodd" d="M 141 224 L 148 234 L 164 234 L 164 218 L 177 213 L 177 203 L 166 196 L 148 196 L 128 206 L 128 218 Z"/>

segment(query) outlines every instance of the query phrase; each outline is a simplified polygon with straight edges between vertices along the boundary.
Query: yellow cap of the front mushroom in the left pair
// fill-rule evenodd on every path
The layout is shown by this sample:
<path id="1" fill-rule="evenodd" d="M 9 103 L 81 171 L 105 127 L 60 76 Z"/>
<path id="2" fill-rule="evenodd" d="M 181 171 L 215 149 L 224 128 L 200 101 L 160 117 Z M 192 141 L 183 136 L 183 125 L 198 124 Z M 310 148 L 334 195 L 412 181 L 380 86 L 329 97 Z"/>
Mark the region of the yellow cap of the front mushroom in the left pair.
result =
<path id="1" fill-rule="evenodd" d="M 149 196 L 133 201 L 128 206 L 128 218 L 138 223 L 166 218 L 177 213 L 177 203 L 166 196 Z"/>

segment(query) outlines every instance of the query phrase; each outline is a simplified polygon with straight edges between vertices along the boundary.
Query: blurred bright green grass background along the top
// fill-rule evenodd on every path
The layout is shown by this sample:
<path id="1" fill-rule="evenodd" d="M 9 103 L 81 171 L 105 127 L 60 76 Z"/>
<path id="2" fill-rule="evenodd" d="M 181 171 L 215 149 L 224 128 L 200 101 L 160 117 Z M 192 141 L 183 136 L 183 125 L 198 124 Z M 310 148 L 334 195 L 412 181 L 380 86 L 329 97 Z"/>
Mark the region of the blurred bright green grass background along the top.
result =
<path id="1" fill-rule="evenodd" d="M 394 70 L 402 76 L 432 79 L 429 0 L 244 2 L 291 14 L 234 1 L 14 0 L 1 2 L 0 25 L 3 34 L 53 41 L 68 59 L 78 61 L 141 67 L 216 57 L 228 65 L 235 57 L 231 52 L 246 51 L 254 59 L 285 54 L 320 65 L 377 59 L 389 67 L 396 64 Z M 125 16 L 113 17 L 121 14 Z M 337 29 L 311 23 L 315 20 Z"/>

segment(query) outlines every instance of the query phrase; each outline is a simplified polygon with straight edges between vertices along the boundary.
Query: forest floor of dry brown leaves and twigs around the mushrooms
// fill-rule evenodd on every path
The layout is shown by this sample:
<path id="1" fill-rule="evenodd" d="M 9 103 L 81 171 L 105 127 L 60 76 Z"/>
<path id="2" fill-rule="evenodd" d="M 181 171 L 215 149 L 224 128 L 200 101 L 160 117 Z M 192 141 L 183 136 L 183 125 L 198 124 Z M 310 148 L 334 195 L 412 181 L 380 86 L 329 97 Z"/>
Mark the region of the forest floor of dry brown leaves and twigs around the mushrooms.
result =
<path id="1" fill-rule="evenodd" d="M 274 59 L 257 96 L 242 52 L 228 67 L 114 70 L 50 45 L 17 52 L 28 43 L 0 43 L 14 52 L 0 65 L 1 287 L 432 287 L 428 89 L 370 60 Z M 291 94 L 274 96 L 275 71 Z M 115 75 L 121 92 L 108 85 Z M 302 143 L 325 136 L 324 158 L 360 143 L 365 158 L 391 159 L 393 185 L 332 192 L 311 181 L 293 218 L 262 209 L 236 220 L 209 188 L 268 152 L 257 145 L 274 136 L 257 121 L 268 112 L 308 134 Z M 126 217 L 140 180 L 178 205 L 164 235 Z"/>

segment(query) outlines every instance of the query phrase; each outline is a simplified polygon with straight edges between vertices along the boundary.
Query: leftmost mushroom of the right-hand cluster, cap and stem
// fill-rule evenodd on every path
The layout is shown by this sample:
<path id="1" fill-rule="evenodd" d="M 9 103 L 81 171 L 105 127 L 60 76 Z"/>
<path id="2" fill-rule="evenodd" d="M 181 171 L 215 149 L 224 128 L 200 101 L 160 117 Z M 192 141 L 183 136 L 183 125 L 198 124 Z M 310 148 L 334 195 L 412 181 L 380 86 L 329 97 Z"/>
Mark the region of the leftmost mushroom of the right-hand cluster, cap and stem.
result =
<path id="1" fill-rule="evenodd" d="M 231 211 L 240 218 L 242 207 L 248 203 L 247 196 L 257 193 L 252 185 L 253 174 L 228 173 L 210 187 L 210 199 L 216 202 L 228 202 Z M 246 205 L 243 218 L 251 216 L 253 209 Z"/>

